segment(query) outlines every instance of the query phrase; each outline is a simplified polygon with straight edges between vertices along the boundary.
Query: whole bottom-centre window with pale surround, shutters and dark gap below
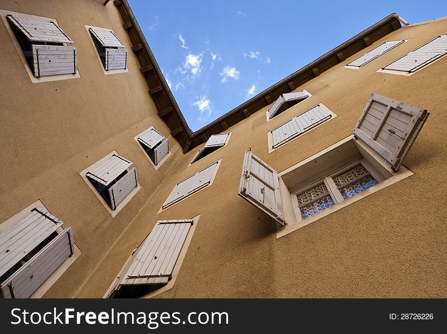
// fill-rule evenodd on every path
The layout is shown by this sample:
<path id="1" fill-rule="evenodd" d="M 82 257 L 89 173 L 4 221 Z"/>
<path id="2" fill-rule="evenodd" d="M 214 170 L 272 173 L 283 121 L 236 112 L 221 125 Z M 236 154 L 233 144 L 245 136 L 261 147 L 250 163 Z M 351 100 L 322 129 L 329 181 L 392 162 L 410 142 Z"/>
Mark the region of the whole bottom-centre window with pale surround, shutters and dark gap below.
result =
<path id="1" fill-rule="evenodd" d="M 186 220 L 161 220 L 132 253 L 108 298 L 138 298 L 170 289 L 188 249 L 199 216 Z"/>

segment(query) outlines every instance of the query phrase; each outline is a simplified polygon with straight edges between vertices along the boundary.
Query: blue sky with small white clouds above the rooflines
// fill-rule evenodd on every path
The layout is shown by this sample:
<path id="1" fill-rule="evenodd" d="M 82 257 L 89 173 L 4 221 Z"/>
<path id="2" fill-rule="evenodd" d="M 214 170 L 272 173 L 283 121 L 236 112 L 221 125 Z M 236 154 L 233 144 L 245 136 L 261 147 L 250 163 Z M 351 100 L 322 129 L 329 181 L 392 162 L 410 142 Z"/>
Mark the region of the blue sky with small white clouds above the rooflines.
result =
<path id="1" fill-rule="evenodd" d="M 129 3 L 193 131 L 392 12 L 447 16 L 447 0 Z"/>

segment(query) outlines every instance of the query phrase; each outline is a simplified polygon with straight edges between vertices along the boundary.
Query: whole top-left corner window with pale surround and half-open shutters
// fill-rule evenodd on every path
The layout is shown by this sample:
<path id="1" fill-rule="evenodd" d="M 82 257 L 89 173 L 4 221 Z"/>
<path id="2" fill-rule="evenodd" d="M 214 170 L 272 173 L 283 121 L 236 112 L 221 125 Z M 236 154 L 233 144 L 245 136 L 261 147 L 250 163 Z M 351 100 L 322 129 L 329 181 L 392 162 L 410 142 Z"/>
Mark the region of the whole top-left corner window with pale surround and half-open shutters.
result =
<path id="1" fill-rule="evenodd" d="M 31 81 L 79 78 L 77 48 L 55 19 L 0 10 Z"/>

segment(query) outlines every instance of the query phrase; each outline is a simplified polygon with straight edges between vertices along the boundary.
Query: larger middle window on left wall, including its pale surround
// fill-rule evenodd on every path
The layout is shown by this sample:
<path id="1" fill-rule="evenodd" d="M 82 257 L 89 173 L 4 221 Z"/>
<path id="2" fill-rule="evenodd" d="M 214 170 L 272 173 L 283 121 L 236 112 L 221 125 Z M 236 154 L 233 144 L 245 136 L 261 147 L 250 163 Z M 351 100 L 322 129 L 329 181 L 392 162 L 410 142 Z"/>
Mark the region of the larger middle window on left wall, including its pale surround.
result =
<path id="1" fill-rule="evenodd" d="M 137 169 L 116 151 L 80 172 L 112 217 L 140 190 Z"/>

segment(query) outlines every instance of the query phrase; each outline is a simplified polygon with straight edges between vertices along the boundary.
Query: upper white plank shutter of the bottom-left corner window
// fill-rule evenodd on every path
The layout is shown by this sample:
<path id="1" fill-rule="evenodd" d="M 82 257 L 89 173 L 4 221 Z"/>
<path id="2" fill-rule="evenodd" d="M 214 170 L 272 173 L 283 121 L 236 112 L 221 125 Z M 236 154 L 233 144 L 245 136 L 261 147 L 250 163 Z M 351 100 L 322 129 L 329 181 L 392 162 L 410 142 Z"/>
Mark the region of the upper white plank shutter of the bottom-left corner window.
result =
<path id="1" fill-rule="evenodd" d="M 34 208 L 25 218 L 0 232 L 0 276 L 35 249 L 63 222 L 43 208 Z"/>

